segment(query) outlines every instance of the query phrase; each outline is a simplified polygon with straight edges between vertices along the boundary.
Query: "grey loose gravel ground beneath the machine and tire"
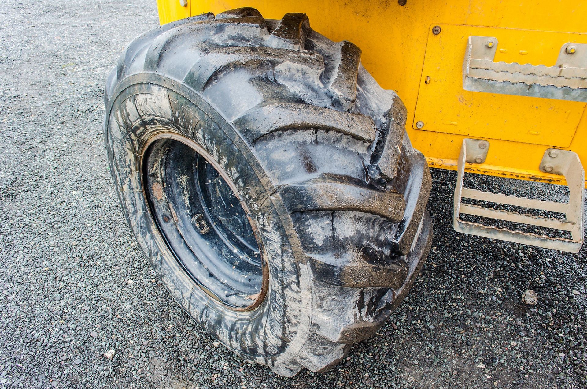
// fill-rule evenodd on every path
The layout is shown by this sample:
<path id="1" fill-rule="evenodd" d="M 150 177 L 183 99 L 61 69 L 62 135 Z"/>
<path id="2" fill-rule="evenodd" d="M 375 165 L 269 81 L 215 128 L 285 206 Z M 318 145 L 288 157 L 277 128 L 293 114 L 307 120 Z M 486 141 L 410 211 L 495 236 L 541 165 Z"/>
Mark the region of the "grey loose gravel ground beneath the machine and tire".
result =
<path id="1" fill-rule="evenodd" d="M 456 234 L 453 172 L 433 172 L 436 235 L 409 298 L 334 370 L 282 378 L 215 342 L 156 280 L 107 169 L 107 72 L 158 22 L 154 1 L 129 3 L 2 3 L 0 388 L 587 386 L 587 249 Z"/>

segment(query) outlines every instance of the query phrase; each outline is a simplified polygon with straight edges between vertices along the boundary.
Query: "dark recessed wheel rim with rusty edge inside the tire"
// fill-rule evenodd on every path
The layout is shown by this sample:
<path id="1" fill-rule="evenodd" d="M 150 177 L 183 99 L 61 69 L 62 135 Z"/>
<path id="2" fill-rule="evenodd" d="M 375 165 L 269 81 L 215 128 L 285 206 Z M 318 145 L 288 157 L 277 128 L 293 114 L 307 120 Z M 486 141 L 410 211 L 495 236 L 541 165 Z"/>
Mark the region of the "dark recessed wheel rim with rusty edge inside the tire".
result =
<path id="1" fill-rule="evenodd" d="M 144 159 L 153 219 L 186 273 L 238 310 L 262 300 L 264 271 L 251 213 L 211 156 L 178 136 L 153 140 Z"/>

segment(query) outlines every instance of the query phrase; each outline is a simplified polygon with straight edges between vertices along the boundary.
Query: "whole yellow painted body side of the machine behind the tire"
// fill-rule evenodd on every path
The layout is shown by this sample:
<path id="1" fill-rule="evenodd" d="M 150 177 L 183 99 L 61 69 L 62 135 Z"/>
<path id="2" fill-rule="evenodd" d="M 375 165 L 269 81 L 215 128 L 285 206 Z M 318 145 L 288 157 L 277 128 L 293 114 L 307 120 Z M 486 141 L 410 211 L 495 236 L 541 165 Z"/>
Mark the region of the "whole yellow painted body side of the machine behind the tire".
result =
<path id="1" fill-rule="evenodd" d="M 555 65 L 564 43 L 587 43 L 587 2 L 571 0 L 158 0 L 161 24 L 187 14 L 252 6 L 265 18 L 308 15 L 313 29 L 362 51 L 363 66 L 406 104 L 407 132 L 431 167 L 455 170 L 463 138 L 486 139 L 485 163 L 467 171 L 565 184 L 538 165 L 549 147 L 572 150 L 587 163 L 586 104 L 468 92 L 463 60 L 470 35 L 498 39 L 495 61 Z M 441 26 L 434 35 L 433 26 Z M 501 50 L 500 50 L 501 49 Z M 430 82 L 425 83 L 426 76 Z M 416 128 L 418 121 L 424 127 Z"/>

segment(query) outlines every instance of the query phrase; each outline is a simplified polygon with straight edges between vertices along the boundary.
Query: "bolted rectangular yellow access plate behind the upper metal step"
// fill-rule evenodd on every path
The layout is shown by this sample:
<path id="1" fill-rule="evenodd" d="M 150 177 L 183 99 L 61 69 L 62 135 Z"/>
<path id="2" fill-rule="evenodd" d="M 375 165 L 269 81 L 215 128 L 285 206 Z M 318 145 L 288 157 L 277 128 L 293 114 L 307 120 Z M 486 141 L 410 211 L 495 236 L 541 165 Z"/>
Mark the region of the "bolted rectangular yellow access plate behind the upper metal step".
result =
<path id="1" fill-rule="evenodd" d="M 498 41 L 495 62 L 554 66 L 562 45 L 587 43 L 587 35 L 450 24 L 438 24 L 440 33 L 434 34 L 434 26 L 414 129 L 557 147 L 571 144 L 585 103 L 464 90 L 463 61 L 469 36 L 493 36 Z"/>

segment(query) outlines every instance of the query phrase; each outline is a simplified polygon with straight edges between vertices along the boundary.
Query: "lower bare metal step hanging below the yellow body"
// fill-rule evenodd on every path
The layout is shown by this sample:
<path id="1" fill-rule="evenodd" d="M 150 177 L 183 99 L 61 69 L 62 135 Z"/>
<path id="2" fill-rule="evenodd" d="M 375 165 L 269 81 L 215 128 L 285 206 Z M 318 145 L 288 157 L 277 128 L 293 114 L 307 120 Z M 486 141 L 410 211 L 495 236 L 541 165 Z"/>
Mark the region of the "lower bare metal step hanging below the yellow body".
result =
<path id="1" fill-rule="evenodd" d="M 559 203 L 528 199 L 527 197 L 507 196 L 501 193 L 483 192 L 477 189 L 463 187 L 465 163 L 483 163 L 489 149 L 487 140 L 464 139 L 461 153 L 458 157 L 457 186 L 454 189 L 454 229 L 465 234 L 484 236 L 492 239 L 507 240 L 531 246 L 544 247 L 576 253 L 583 243 L 583 204 L 585 196 L 585 171 L 579 156 L 568 150 L 547 149 L 542 157 L 539 169 L 565 177 L 569 187 L 569 202 Z M 507 204 L 529 209 L 545 210 L 548 212 L 563 213 L 565 219 L 541 217 L 490 207 L 481 207 L 473 204 L 461 203 L 461 199 L 481 200 L 484 202 Z M 466 222 L 460 219 L 460 214 L 488 217 L 504 220 L 505 222 L 529 224 L 532 226 L 568 231 L 572 239 L 550 237 L 535 233 L 527 233 L 495 226 L 485 226 L 479 223 Z"/>

